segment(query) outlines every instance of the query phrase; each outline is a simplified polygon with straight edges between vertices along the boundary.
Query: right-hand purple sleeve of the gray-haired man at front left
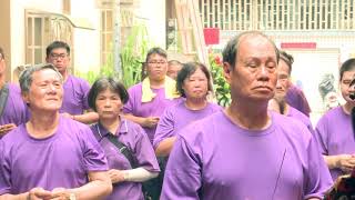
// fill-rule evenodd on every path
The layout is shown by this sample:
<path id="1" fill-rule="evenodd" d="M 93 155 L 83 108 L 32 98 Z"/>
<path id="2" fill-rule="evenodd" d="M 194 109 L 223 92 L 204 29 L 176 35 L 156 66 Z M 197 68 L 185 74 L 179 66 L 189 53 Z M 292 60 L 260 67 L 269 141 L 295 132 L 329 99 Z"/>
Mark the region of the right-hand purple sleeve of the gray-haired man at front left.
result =
<path id="1" fill-rule="evenodd" d="M 82 133 L 79 133 L 83 141 L 83 161 L 87 171 L 106 171 L 108 161 L 103 149 L 94 138 L 91 129 L 85 127 Z"/>

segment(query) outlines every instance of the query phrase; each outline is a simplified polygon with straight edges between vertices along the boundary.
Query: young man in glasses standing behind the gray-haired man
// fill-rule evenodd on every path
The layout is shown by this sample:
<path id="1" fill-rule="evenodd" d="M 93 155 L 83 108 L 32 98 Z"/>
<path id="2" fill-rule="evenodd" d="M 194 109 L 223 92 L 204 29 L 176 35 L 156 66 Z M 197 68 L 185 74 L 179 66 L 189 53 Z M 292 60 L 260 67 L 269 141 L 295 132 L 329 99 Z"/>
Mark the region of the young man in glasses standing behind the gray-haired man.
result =
<path id="1" fill-rule="evenodd" d="M 54 41 L 47 47 L 45 53 L 47 62 L 53 64 L 64 80 L 64 97 L 60 112 L 83 123 L 97 122 L 99 116 L 90 110 L 88 104 L 88 93 L 90 90 L 88 81 L 69 74 L 70 47 L 68 43 Z"/>

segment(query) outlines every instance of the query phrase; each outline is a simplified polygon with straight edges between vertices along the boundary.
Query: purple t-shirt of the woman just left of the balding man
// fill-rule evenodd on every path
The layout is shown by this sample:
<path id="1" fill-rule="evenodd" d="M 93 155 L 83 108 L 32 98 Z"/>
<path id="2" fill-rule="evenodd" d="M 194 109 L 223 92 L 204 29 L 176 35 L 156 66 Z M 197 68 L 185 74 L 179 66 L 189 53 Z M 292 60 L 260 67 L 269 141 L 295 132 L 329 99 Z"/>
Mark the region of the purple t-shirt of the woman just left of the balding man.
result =
<path id="1" fill-rule="evenodd" d="M 176 136 L 176 132 L 189 123 L 203 119 L 219 110 L 222 110 L 222 107 L 210 102 L 201 110 L 190 110 L 186 108 L 185 101 L 169 107 L 158 123 L 153 142 L 154 149 L 162 140 Z"/>

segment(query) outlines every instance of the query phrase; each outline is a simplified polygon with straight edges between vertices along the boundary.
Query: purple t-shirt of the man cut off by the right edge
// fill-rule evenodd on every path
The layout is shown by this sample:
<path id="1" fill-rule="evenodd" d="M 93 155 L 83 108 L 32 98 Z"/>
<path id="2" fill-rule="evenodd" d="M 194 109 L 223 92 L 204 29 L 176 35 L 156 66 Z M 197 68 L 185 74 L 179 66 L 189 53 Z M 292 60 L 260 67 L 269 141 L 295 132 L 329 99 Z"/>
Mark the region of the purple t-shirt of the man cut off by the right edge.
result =
<path id="1" fill-rule="evenodd" d="M 315 128 L 321 153 L 325 156 L 354 154 L 355 140 L 352 118 L 342 107 L 327 111 Z M 333 180 L 344 174 L 341 169 L 331 169 Z"/>

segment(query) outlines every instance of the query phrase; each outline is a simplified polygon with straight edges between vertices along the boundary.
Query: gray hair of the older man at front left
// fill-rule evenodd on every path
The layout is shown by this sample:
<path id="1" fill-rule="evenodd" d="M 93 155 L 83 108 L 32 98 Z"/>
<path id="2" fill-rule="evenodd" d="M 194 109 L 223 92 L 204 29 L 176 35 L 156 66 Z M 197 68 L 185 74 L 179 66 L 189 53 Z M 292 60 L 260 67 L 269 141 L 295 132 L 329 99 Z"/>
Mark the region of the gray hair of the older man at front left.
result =
<path id="1" fill-rule="evenodd" d="M 22 71 L 20 74 L 19 82 L 20 82 L 20 88 L 21 88 L 22 93 L 29 92 L 31 83 L 33 81 L 33 77 L 32 77 L 33 73 L 37 71 L 42 71 L 44 69 L 53 70 L 57 73 L 57 76 L 59 77 L 60 81 L 61 82 L 63 81 L 62 74 L 51 63 L 41 63 L 41 64 L 31 66 L 31 67 L 24 69 L 24 71 Z"/>

